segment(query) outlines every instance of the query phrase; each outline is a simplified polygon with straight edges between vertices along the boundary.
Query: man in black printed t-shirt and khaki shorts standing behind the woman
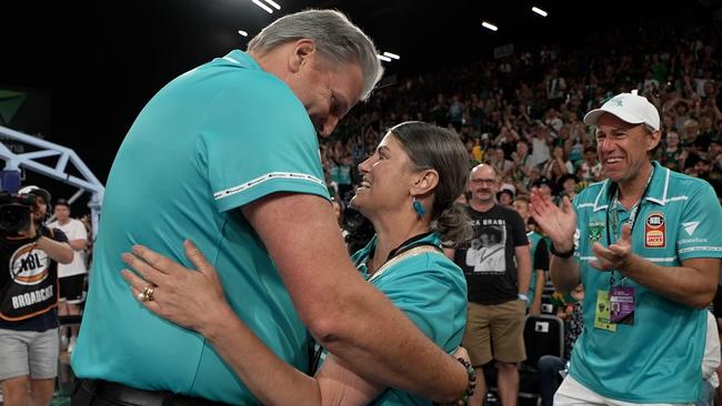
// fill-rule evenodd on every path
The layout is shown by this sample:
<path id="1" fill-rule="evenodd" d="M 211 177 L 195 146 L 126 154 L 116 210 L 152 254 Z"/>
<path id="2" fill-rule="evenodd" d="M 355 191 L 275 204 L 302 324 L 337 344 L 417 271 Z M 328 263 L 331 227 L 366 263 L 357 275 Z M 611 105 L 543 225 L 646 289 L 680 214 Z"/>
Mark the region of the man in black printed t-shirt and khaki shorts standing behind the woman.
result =
<path id="1" fill-rule="evenodd" d="M 529 297 L 531 257 L 524 222 L 515 211 L 494 201 L 499 173 L 488 164 L 471 170 L 469 215 L 474 236 L 447 255 L 467 276 L 469 308 L 463 346 L 477 369 L 477 390 L 470 405 L 481 405 L 487 385 L 482 366 L 492 359 L 499 368 L 503 405 L 515 405 L 517 364 L 527 358 L 523 322 Z"/>

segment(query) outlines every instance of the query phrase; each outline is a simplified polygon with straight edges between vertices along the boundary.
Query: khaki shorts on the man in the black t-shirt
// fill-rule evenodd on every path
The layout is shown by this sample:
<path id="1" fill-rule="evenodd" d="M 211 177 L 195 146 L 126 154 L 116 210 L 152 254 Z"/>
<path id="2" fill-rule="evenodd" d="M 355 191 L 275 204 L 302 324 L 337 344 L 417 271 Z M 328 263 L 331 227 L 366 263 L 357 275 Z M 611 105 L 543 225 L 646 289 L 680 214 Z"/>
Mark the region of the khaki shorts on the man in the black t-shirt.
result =
<path id="1" fill-rule="evenodd" d="M 511 301 L 498 305 L 469 302 L 467 309 L 467 329 L 461 345 L 469 352 L 474 367 L 492 359 L 509 364 L 527 359 L 524 302 Z"/>

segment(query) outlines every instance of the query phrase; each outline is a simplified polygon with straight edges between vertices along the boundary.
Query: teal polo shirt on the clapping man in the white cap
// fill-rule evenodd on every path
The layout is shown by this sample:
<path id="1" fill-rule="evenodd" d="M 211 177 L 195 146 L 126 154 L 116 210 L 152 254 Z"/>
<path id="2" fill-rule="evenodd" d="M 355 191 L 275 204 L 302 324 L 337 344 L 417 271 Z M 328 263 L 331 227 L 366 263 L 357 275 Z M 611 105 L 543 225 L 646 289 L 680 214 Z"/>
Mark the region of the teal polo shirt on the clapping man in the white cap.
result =
<path id="1" fill-rule="evenodd" d="M 660 266 L 681 266 L 695 257 L 722 257 L 722 209 L 703 180 L 653 163 L 654 173 L 632 230 L 632 250 Z M 631 278 L 615 285 L 635 290 L 633 325 L 616 332 L 594 327 L 598 291 L 610 290 L 610 273 L 589 265 L 591 246 L 608 246 L 609 180 L 574 199 L 578 214 L 575 257 L 584 284 L 584 332 L 572 353 L 570 374 L 602 396 L 633 403 L 694 403 L 699 398 L 706 335 L 704 311 L 665 298 Z M 618 205 L 620 230 L 630 213 Z"/>

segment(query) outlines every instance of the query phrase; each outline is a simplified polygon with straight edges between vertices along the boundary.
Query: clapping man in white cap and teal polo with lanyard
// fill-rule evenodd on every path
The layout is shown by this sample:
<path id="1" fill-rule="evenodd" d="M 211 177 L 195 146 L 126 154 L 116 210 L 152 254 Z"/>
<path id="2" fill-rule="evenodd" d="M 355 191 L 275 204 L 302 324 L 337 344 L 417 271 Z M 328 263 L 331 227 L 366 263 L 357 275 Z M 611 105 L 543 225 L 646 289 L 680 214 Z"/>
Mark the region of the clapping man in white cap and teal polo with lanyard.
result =
<path id="1" fill-rule="evenodd" d="M 573 206 L 532 195 L 532 216 L 552 240 L 555 287 L 584 282 L 584 331 L 554 404 L 696 402 L 700 308 L 719 277 L 722 209 L 709 183 L 651 161 L 660 116 L 646 99 L 618 94 L 584 122 L 596 128 L 608 181 Z"/>

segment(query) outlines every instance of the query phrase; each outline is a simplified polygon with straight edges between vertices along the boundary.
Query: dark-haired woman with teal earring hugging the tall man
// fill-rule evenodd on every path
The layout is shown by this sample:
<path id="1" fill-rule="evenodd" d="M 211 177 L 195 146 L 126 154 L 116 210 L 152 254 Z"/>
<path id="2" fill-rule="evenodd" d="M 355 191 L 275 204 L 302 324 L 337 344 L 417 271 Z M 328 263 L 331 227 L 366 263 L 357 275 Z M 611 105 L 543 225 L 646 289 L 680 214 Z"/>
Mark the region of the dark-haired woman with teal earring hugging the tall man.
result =
<path id="1" fill-rule="evenodd" d="M 357 268 L 449 354 L 461 344 L 467 284 L 442 246 L 471 235 L 464 210 L 454 204 L 467 186 L 467 162 L 464 145 L 452 132 L 404 122 L 389 130 L 375 152 L 359 165 L 362 180 L 351 200 L 351 206 L 375 230 L 371 242 L 352 257 Z M 124 258 L 143 278 L 128 270 L 123 276 L 151 312 L 203 334 L 261 403 L 431 404 L 362 378 L 323 351 L 318 352 L 322 364 L 312 377 L 284 364 L 230 311 L 215 271 L 202 254 L 190 242 L 185 251 L 200 272 L 187 272 L 140 248 L 134 252 L 142 260 L 129 254 Z M 209 308 L 213 312 L 200 311 Z"/>

